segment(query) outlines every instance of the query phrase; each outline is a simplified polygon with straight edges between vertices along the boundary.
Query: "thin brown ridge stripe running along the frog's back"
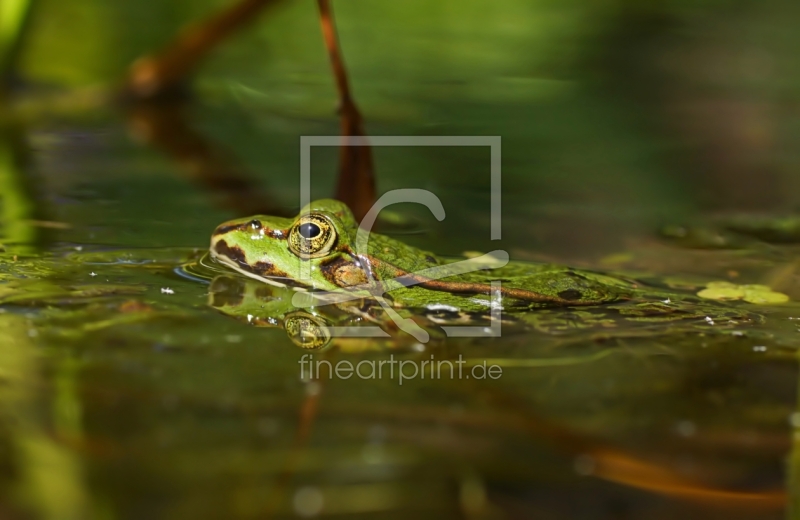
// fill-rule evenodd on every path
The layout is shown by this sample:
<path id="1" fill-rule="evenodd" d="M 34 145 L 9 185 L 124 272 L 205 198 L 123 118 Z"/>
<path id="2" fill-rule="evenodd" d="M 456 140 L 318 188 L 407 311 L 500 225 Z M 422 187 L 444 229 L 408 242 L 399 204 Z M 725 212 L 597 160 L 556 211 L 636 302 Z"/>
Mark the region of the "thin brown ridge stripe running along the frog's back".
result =
<path id="1" fill-rule="evenodd" d="M 459 294 L 492 294 L 492 286 L 491 284 L 484 284 L 484 283 L 470 283 L 470 282 L 448 282 L 446 280 L 432 280 L 430 278 L 426 278 L 424 276 L 419 276 L 414 273 L 409 273 L 404 271 L 392 264 L 384 262 L 380 259 L 377 259 L 373 256 L 367 257 L 370 263 L 373 266 L 383 266 L 388 268 L 392 271 L 392 277 L 397 279 L 397 282 L 406 285 L 419 285 L 426 289 L 430 289 L 432 291 L 442 291 L 442 292 L 449 292 L 449 293 L 459 293 Z M 562 291 L 565 294 L 565 297 L 561 296 L 550 296 L 547 294 L 541 294 L 534 291 L 528 291 L 525 289 L 517 289 L 513 287 L 501 286 L 500 287 L 500 294 L 506 298 L 514 298 L 516 300 L 523 300 L 535 303 L 551 303 L 555 305 L 562 305 L 562 306 L 576 306 L 576 305 L 597 305 L 597 301 L 594 300 L 575 300 L 575 297 L 581 297 L 580 294 L 575 294 L 578 291 L 575 290 L 574 293 L 572 291 Z"/>

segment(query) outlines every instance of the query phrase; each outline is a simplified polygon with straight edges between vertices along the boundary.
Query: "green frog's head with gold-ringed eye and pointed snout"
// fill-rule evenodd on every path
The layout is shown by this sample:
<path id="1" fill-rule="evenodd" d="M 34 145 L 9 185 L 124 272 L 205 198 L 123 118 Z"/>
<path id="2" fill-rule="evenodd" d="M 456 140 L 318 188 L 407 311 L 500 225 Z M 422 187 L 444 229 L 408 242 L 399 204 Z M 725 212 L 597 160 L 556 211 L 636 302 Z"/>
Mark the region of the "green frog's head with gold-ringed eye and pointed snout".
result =
<path id="1" fill-rule="evenodd" d="M 267 283 L 284 278 L 332 290 L 323 264 L 350 251 L 358 224 L 337 200 L 314 201 L 294 219 L 256 215 L 221 224 L 211 236 L 211 256 Z M 310 273 L 311 279 L 303 278 Z M 287 280 L 287 281 L 288 281 Z"/>

